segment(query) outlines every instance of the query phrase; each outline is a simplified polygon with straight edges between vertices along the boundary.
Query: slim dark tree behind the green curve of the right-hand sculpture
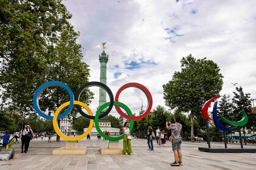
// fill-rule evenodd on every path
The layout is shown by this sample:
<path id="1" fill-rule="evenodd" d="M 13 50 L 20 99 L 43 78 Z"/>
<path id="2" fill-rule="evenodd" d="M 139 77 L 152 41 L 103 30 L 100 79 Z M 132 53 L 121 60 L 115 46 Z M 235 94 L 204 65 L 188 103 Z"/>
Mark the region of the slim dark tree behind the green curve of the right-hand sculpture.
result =
<path id="1" fill-rule="evenodd" d="M 236 92 L 233 92 L 234 97 L 232 98 L 233 101 L 233 114 L 234 120 L 238 121 L 241 120 L 242 114 L 241 110 L 244 110 L 248 116 L 248 122 L 245 126 L 243 126 L 243 134 L 244 134 L 244 144 L 246 144 L 246 137 L 245 137 L 245 128 L 246 129 L 254 129 L 254 114 L 251 114 L 251 94 L 244 94 L 243 88 L 240 86 L 239 88 L 236 87 Z"/>

